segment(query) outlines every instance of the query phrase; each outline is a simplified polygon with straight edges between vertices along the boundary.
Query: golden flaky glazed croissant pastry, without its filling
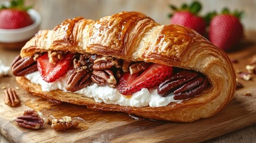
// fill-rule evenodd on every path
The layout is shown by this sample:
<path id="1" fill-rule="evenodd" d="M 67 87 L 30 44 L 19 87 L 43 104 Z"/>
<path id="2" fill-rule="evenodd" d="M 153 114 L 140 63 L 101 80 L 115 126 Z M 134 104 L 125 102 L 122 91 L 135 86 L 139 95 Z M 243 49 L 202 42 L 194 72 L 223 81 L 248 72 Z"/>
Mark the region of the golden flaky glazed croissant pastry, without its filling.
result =
<path id="1" fill-rule="evenodd" d="M 162 107 L 132 107 L 95 102 L 93 98 L 60 89 L 44 91 L 24 74 L 16 77 L 26 91 L 103 111 L 121 111 L 150 119 L 193 122 L 217 114 L 233 98 L 236 75 L 229 57 L 192 29 L 161 25 L 138 12 L 121 12 L 97 21 L 68 19 L 53 30 L 40 30 L 23 46 L 20 58 L 49 51 L 101 55 L 134 63 L 155 63 L 205 75 L 208 88 L 200 94 Z M 13 70 L 15 69 L 14 60 Z M 31 66 L 30 66 L 31 67 Z M 142 66 L 143 67 L 143 66 Z M 24 70 L 24 69 L 23 69 Z M 26 70 L 31 73 L 35 70 Z"/>

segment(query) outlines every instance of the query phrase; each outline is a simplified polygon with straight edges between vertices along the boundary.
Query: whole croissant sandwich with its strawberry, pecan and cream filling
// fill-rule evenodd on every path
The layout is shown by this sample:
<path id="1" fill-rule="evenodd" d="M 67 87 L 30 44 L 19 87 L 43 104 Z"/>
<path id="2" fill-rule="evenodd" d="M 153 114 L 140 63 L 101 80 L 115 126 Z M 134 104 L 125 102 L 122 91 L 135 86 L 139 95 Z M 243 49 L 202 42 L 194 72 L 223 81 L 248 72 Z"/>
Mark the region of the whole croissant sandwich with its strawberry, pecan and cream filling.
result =
<path id="1" fill-rule="evenodd" d="M 213 116 L 236 88 L 220 48 L 192 29 L 137 12 L 76 17 L 40 30 L 11 70 L 42 98 L 174 122 Z"/>

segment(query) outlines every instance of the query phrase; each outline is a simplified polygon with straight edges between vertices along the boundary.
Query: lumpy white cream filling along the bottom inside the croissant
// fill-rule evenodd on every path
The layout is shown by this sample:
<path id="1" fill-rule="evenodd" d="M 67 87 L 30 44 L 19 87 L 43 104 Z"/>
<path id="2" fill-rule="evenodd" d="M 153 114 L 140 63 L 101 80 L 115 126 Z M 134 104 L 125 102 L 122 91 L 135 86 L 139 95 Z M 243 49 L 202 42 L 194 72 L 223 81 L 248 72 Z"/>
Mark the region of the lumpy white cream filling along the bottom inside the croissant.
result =
<path id="1" fill-rule="evenodd" d="M 60 89 L 64 92 L 66 90 L 66 75 L 60 77 L 53 83 L 45 82 L 39 74 L 39 71 L 27 74 L 25 77 L 32 83 L 36 83 L 42 86 L 42 91 L 54 91 Z M 109 86 L 98 86 L 95 83 L 91 83 L 89 86 L 76 91 L 77 94 L 85 95 L 86 97 L 94 98 L 95 102 L 104 102 L 106 104 L 118 104 L 131 107 L 164 107 L 170 102 L 181 102 L 182 100 L 174 100 L 173 94 L 169 94 L 167 97 L 161 97 L 158 95 L 158 89 L 146 89 L 132 94 L 131 98 L 124 98 L 119 93 L 118 89 L 110 88 Z"/>

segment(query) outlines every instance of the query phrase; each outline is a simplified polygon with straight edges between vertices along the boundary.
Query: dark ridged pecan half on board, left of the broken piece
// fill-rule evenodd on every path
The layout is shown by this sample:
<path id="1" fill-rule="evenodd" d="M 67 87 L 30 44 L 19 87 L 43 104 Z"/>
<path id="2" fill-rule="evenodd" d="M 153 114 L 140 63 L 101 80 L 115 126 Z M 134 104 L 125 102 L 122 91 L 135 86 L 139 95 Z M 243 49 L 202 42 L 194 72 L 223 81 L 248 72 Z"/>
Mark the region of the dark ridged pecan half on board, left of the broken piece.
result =
<path id="1" fill-rule="evenodd" d="M 27 129 L 39 129 L 44 125 L 44 120 L 39 117 L 35 110 L 26 110 L 23 116 L 18 116 L 15 120 L 18 126 Z"/>

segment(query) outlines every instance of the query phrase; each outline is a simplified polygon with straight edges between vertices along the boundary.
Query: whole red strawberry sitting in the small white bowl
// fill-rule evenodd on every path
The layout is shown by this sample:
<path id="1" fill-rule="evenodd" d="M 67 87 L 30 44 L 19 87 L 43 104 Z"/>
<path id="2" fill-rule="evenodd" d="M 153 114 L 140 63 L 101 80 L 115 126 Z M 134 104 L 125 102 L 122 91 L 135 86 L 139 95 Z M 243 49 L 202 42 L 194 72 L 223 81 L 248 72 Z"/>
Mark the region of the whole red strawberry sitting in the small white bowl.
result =
<path id="1" fill-rule="evenodd" d="M 0 28 L 18 29 L 33 24 L 27 10 L 30 7 L 24 7 L 23 0 L 11 1 L 10 7 L 2 5 L 0 7 Z"/>

